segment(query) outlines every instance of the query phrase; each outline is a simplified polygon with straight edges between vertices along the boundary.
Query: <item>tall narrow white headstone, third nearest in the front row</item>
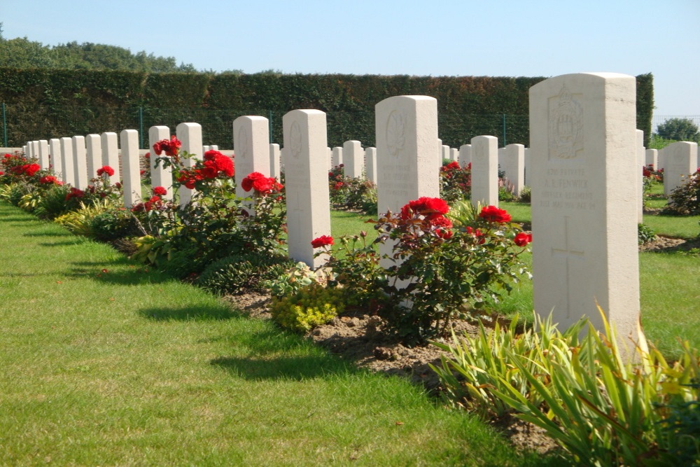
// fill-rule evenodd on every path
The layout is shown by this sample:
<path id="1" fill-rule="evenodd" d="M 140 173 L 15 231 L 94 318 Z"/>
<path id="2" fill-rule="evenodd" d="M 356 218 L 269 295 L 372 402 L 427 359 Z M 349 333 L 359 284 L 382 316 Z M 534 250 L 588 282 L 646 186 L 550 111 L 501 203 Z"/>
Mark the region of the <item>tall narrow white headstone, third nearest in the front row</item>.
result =
<path id="1" fill-rule="evenodd" d="M 289 257 L 318 267 L 311 240 L 330 235 L 325 113 L 293 110 L 282 117 Z"/>

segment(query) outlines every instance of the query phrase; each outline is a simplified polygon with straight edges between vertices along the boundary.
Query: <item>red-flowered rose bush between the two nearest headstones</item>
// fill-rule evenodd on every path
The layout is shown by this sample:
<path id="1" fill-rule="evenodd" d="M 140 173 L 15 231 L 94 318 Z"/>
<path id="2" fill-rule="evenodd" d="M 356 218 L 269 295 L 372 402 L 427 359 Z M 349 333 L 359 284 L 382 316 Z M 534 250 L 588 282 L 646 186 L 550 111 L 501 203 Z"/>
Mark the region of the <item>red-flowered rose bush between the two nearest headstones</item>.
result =
<path id="1" fill-rule="evenodd" d="M 493 210 L 497 220 L 484 214 Z M 357 295 L 365 304 L 376 300 L 388 332 L 407 345 L 445 334 L 452 319 L 493 302 L 526 273 L 518 257 L 531 237 L 510 223 L 505 211 L 489 207 L 477 215 L 469 202 L 457 202 L 449 219 L 447 211 L 439 198 L 414 200 L 400 213 L 379 218 L 372 244 L 365 244 L 362 234 L 342 237 L 342 249 L 327 263 L 346 296 Z M 520 247 L 514 243 L 517 235 Z M 384 242 L 393 247 L 380 258 L 374 248 Z"/>

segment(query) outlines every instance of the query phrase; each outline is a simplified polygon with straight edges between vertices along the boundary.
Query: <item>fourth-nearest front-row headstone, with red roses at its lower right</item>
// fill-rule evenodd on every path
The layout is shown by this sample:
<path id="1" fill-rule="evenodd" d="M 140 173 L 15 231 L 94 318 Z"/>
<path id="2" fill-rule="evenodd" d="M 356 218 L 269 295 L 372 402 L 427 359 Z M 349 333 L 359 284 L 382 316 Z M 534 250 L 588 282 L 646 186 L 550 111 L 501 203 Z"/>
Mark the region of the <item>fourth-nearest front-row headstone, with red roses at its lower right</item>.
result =
<path id="1" fill-rule="evenodd" d="M 251 172 L 269 176 L 269 120 L 258 116 L 233 120 L 233 151 L 236 153 L 236 195 L 252 196 L 252 190 L 244 190 L 241 181 Z"/>

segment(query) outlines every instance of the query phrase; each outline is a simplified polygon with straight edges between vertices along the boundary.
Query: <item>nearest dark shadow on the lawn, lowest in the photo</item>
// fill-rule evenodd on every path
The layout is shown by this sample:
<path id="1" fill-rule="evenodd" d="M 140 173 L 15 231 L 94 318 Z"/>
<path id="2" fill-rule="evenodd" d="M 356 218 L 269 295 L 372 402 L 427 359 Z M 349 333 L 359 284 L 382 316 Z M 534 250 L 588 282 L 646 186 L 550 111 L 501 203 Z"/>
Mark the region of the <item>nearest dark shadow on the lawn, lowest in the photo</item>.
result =
<path id="1" fill-rule="evenodd" d="M 245 379 L 292 379 L 301 381 L 349 371 L 349 367 L 335 358 L 321 355 L 277 356 L 265 358 L 221 357 L 210 361 L 211 365 L 227 370 Z"/>

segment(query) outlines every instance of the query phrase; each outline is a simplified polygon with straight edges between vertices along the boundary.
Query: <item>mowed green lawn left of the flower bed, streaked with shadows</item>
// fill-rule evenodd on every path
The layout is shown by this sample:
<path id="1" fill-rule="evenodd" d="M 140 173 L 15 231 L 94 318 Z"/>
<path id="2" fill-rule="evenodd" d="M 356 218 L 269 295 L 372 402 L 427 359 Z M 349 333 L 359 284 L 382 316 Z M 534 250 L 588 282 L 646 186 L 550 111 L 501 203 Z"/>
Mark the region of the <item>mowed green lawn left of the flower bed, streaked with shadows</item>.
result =
<path id="1" fill-rule="evenodd" d="M 7 204 L 0 253 L 3 464 L 542 464 L 403 379 Z"/>

